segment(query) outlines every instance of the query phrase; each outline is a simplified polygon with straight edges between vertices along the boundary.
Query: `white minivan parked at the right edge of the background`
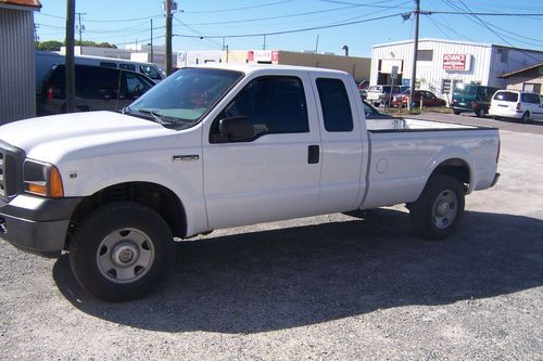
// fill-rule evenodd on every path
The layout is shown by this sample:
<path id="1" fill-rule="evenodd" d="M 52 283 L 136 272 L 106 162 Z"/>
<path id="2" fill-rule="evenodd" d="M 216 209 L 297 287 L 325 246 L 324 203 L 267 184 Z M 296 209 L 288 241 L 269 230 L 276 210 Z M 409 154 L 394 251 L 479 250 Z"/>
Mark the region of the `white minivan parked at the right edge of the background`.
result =
<path id="1" fill-rule="evenodd" d="M 489 114 L 494 118 L 516 118 L 528 123 L 543 119 L 543 98 L 518 90 L 498 90 L 492 98 Z"/>

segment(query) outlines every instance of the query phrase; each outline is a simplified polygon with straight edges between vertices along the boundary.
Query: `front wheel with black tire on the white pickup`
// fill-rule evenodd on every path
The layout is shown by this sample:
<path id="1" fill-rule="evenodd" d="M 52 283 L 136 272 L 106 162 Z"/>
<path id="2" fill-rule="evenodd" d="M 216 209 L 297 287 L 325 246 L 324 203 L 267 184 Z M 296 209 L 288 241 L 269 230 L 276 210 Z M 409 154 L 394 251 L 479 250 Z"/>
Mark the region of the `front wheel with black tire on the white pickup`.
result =
<path id="1" fill-rule="evenodd" d="M 75 278 L 108 301 L 150 294 L 174 261 L 168 225 L 156 211 L 135 202 L 100 206 L 83 220 L 70 244 Z"/>

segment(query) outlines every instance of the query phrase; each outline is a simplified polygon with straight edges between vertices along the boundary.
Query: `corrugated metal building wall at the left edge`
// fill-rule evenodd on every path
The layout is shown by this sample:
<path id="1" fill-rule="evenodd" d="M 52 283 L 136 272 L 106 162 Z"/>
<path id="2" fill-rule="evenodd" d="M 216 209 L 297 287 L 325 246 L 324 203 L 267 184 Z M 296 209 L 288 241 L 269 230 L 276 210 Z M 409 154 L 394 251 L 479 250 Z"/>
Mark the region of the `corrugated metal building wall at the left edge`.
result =
<path id="1" fill-rule="evenodd" d="M 0 125 L 36 116 L 34 11 L 38 0 L 0 0 Z"/>

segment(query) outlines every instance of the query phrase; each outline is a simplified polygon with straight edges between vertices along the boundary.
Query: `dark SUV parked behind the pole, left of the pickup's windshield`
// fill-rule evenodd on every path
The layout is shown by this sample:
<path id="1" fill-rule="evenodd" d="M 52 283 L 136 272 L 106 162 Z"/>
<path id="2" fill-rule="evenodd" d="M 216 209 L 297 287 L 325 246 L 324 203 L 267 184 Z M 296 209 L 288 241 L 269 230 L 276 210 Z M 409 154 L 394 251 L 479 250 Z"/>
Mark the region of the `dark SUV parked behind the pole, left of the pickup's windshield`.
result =
<path id="1" fill-rule="evenodd" d="M 37 114 L 66 112 L 65 66 L 54 65 L 46 76 L 37 99 Z M 75 65 L 75 106 L 78 112 L 116 111 L 147 92 L 154 82 L 128 70 Z"/>

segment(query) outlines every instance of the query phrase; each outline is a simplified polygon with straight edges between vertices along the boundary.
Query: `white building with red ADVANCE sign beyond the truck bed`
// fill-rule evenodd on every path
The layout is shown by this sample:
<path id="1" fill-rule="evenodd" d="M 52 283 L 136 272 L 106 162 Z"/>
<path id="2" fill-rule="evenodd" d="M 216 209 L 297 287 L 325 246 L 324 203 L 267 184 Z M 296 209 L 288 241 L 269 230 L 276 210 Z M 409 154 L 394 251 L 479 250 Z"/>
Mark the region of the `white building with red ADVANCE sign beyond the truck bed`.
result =
<path id="1" fill-rule="evenodd" d="M 374 46 L 370 85 L 409 85 L 413 40 Z M 450 100 L 458 83 L 505 89 L 502 76 L 543 62 L 543 51 L 466 41 L 421 39 L 417 53 L 417 88 Z M 392 74 L 396 72 L 393 80 Z"/>

